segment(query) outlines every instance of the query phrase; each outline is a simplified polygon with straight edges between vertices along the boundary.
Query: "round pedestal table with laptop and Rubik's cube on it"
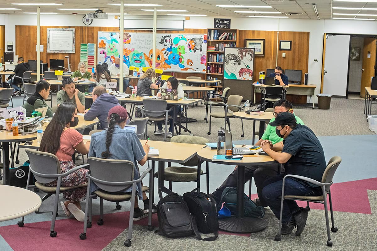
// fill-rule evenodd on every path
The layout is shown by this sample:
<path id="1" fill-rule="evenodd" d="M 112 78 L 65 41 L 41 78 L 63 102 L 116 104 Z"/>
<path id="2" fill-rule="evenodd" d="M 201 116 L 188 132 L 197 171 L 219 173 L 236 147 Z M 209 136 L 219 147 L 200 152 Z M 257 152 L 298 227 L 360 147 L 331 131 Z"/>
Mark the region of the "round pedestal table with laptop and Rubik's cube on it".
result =
<path id="1" fill-rule="evenodd" d="M 236 216 L 219 220 L 219 228 L 233 233 L 253 233 L 265 229 L 267 222 L 264 219 L 244 216 L 245 166 L 263 166 L 276 163 L 276 160 L 268 155 L 250 155 L 249 157 L 245 155 L 242 160 L 212 161 L 216 149 L 212 150 L 208 147 L 200 149 L 196 154 L 199 159 L 204 161 L 238 166 L 237 213 Z"/>

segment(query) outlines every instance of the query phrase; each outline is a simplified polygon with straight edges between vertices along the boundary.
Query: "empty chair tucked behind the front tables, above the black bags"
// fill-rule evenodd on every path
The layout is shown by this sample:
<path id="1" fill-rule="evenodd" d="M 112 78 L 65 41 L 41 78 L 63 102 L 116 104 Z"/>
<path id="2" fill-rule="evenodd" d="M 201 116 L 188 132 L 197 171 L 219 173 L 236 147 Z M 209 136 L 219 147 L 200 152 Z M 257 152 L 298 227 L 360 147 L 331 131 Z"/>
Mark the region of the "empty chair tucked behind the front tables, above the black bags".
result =
<path id="1" fill-rule="evenodd" d="M 197 144 L 205 146 L 208 143 L 207 138 L 190 136 L 190 135 L 176 135 L 170 139 L 170 142 L 175 143 L 186 143 L 186 144 Z M 195 181 L 196 186 L 200 188 L 200 175 L 206 175 L 207 181 L 207 193 L 209 194 L 209 172 L 208 172 L 208 162 L 206 162 L 206 170 L 203 172 L 201 170 L 201 164 L 204 161 L 199 160 L 195 155 L 187 162 L 181 164 L 182 166 L 171 166 L 171 163 L 168 163 L 168 167 L 165 168 L 165 177 L 164 180 L 169 181 L 169 189 L 172 190 L 172 182 L 190 182 Z M 158 177 L 158 172 L 155 173 L 155 177 Z"/>

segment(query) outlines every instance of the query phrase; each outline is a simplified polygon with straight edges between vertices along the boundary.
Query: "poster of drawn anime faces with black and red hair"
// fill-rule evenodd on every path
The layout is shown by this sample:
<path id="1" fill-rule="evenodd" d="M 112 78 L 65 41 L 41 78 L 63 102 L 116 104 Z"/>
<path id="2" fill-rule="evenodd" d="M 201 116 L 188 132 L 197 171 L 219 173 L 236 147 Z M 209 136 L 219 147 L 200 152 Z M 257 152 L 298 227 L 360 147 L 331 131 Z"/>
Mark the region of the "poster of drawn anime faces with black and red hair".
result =
<path id="1" fill-rule="evenodd" d="M 253 80 L 254 48 L 225 47 L 224 79 Z"/>

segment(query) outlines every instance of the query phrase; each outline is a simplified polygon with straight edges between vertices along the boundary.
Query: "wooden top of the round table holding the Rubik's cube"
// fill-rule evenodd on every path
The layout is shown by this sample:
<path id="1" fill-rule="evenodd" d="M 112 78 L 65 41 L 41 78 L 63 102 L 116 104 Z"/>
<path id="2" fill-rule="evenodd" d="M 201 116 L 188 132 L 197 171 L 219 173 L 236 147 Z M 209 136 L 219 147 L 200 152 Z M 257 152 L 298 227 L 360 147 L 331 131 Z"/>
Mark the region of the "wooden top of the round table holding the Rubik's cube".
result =
<path id="1" fill-rule="evenodd" d="M 238 147 L 241 147 L 241 145 L 239 145 Z M 210 149 L 209 147 L 205 147 L 200 149 L 196 154 L 201 160 L 225 165 L 261 166 L 276 163 L 276 160 L 274 160 L 268 155 L 245 155 L 244 158 L 242 158 L 242 160 L 212 161 L 213 155 L 216 155 L 216 152 L 216 149 Z"/>

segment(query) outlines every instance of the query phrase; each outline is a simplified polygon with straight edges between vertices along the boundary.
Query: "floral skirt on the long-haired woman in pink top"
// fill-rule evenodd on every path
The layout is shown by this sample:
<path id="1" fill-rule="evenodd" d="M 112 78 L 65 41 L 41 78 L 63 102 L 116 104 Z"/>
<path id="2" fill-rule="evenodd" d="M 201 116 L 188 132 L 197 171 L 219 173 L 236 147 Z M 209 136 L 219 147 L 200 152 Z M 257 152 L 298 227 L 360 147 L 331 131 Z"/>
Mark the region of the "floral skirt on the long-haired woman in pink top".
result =
<path id="1" fill-rule="evenodd" d="M 68 172 L 70 169 L 76 167 L 73 163 L 73 160 L 70 161 L 60 161 L 60 170 L 61 173 Z M 67 175 L 65 177 L 61 178 L 61 186 L 63 187 L 71 187 L 71 186 L 78 186 L 84 183 L 88 182 L 88 178 L 86 176 L 86 173 L 89 170 L 81 168 L 77 171 L 71 173 L 70 175 Z M 52 181 L 48 184 L 45 184 L 46 186 L 55 187 L 57 186 L 57 181 Z M 83 201 L 86 198 L 86 187 L 71 190 L 67 192 L 63 192 L 64 200 L 77 202 L 77 201 Z"/>

